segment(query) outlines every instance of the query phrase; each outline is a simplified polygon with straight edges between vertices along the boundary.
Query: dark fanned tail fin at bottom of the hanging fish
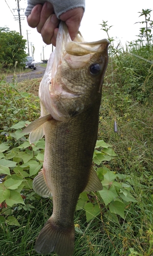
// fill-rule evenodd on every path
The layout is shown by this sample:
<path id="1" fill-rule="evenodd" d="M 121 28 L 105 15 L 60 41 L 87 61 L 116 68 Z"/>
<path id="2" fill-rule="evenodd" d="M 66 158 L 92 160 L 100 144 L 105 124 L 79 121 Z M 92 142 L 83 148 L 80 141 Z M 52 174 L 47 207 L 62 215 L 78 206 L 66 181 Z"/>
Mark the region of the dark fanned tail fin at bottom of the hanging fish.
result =
<path id="1" fill-rule="evenodd" d="M 38 235 L 35 250 L 43 255 L 54 251 L 59 256 L 72 256 L 74 236 L 74 225 L 63 228 L 50 217 Z"/>

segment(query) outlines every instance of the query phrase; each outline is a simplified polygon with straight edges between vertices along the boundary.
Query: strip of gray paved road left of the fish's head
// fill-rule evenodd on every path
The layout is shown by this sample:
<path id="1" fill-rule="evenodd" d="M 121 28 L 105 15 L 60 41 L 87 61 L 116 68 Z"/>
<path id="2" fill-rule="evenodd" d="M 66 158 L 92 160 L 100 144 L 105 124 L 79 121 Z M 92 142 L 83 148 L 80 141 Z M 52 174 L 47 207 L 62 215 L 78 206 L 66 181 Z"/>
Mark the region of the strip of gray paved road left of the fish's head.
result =
<path id="1" fill-rule="evenodd" d="M 41 66 L 36 66 L 36 67 L 37 67 L 36 70 L 31 69 L 31 70 L 29 70 L 28 73 L 16 74 L 14 76 L 15 81 L 20 82 L 25 79 L 33 79 L 33 78 L 43 77 L 46 68 L 41 67 Z M 13 78 L 12 75 L 7 76 L 7 82 L 12 82 L 12 78 Z"/>

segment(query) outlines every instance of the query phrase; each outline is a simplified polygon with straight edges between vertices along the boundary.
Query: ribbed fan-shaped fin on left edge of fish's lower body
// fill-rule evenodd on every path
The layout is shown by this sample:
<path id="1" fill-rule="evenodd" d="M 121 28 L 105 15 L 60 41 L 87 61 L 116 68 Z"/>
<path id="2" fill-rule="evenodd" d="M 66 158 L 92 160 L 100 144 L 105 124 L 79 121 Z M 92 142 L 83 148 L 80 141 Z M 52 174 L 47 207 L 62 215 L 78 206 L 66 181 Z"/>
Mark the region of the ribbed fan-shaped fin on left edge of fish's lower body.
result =
<path id="1" fill-rule="evenodd" d="M 41 197 L 52 197 L 52 191 L 47 186 L 43 169 L 33 181 L 34 191 Z"/>

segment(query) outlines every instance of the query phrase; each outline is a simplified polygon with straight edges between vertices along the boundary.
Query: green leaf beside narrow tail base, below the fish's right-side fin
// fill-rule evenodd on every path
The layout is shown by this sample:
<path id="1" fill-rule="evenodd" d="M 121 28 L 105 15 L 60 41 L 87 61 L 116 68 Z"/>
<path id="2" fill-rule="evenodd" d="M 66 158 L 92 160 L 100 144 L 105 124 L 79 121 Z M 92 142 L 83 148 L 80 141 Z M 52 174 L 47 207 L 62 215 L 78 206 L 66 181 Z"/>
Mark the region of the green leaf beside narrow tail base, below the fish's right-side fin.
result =
<path id="1" fill-rule="evenodd" d="M 84 209 L 86 210 L 87 222 L 95 218 L 100 213 L 99 206 L 98 205 L 94 206 L 92 203 L 87 203 Z"/>

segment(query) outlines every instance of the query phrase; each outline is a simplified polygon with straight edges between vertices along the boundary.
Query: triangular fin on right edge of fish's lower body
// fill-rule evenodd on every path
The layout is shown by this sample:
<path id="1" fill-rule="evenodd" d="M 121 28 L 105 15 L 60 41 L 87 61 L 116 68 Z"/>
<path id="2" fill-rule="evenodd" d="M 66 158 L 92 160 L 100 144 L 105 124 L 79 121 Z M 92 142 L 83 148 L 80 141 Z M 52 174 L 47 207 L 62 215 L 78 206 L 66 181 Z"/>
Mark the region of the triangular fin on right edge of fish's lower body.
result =
<path id="1" fill-rule="evenodd" d="M 99 178 L 95 170 L 93 169 L 93 167 L 91 167 L 89 181 L 84 191 L 98 191 L 102 189 L 103 189 L 103 185 L 99 181 Z"/>

